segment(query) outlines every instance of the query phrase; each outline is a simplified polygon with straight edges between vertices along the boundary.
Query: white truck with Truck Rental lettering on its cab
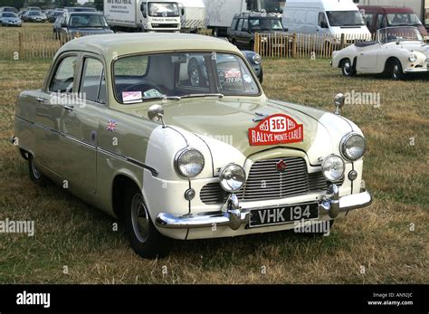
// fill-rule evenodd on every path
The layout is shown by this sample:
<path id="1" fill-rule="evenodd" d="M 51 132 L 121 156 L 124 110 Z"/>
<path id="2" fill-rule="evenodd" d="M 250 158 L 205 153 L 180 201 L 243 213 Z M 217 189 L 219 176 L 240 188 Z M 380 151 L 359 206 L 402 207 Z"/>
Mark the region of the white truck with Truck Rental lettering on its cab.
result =
<path id="1" fill-rule="evenodd" d="M 180 9 L 168 0 L 104 0 L 104 15 L 114 31 L 180 32 Z"/>

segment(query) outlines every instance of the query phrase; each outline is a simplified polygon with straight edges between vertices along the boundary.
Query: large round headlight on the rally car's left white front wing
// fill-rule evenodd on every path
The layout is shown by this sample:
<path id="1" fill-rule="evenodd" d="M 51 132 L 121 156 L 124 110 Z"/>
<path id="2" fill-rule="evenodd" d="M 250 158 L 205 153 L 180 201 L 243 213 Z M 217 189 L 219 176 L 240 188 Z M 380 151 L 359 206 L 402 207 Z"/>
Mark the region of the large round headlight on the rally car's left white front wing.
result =
<path id="1" fill-rule="evenodd" d="M 205 159 L 195 148 L 186 147 L 176 154 L 175 166 L 180 176 L 195 177 L 201 174 L 205 165 Z"/>

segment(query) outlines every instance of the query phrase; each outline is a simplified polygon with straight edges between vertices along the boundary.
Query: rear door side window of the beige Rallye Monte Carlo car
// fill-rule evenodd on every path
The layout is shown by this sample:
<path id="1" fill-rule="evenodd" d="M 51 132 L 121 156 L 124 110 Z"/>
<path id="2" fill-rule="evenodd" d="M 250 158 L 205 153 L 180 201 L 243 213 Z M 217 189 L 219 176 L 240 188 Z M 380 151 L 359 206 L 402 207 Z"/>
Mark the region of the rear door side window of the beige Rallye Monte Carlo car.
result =
<path id="1" fill-rule="evenodd" d="M 76 78 L 77 63 L 78 58 L 75 55 L 62 59 L 49 84 L 49 90 L 62 93 L 72 92 L 74 79 Z"/>

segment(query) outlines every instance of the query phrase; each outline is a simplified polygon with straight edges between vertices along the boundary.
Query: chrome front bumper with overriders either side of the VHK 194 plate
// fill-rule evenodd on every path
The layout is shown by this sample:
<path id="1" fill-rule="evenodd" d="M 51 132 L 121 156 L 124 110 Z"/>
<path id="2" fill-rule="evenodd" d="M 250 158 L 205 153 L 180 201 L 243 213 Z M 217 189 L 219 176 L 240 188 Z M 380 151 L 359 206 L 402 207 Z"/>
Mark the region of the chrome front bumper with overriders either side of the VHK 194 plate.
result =
<path id="1" fill-rule="evenodd" d="M 319 214 L 329 214 L 330 218 L 336 218 L 340 212 L 366 207 L 372 203 L 372 196 L 363 189 L 361 193 L 339 197 L 338 186 L 331 185 L 322 201 L 319 203 Z M 207 214 L 186 214 L 176 216 L 174 214 L 160 213 L 157 215 L 156 224 L 160 228 L 189 229 L 207 228 L 213 226 L 229 226 L 238 230 L 242 224 L 249 224 L 251 208 L 238 208 L 238 200 L 231 195 L 225 209 L 221 212 Z M 253 208 L 252 208 L 253 209 Z M 291 223 L 292 224 L 292 223 Z"/>

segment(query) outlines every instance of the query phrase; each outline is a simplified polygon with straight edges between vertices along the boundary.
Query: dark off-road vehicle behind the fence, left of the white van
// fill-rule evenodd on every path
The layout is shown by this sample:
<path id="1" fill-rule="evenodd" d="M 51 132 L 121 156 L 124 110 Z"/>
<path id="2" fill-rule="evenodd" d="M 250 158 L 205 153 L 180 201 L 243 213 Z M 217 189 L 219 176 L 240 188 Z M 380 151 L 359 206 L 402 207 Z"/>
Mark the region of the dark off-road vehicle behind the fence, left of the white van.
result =
<path id="1" fill-rule="evenodd" d="M 254 49 L 255 33 L 283 32 L 281 18 L 272 14 L 244 13 L 234 16 L 228 38 L 240 49 Z"/>

